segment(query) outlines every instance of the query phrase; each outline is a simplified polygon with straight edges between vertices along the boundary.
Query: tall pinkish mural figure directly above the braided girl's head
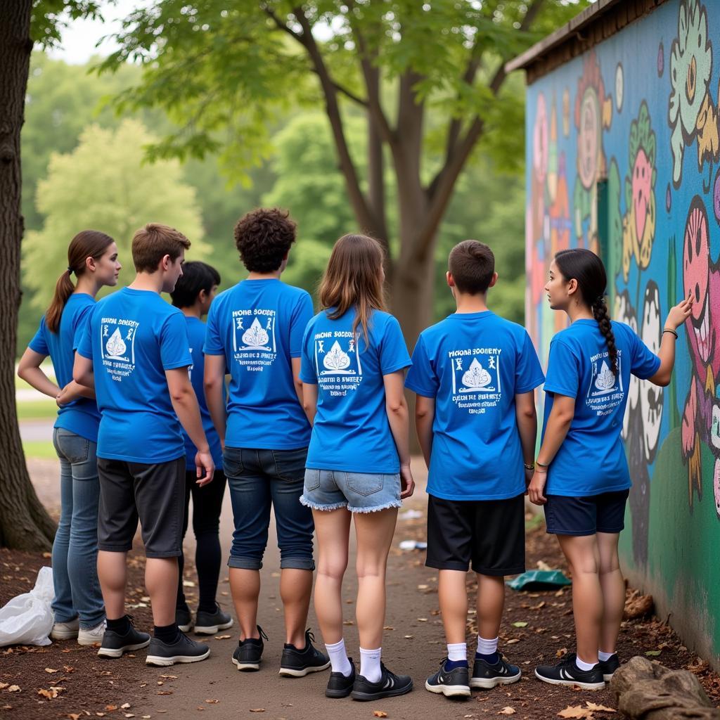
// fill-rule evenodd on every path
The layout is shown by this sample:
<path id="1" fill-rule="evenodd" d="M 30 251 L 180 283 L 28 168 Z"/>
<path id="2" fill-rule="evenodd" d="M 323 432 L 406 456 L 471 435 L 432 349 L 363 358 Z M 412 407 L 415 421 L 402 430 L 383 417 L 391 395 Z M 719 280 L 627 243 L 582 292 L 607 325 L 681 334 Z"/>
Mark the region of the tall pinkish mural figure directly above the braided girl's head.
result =
<path id="1" fill-rule="evenodd" d="M 605 84 L 595 51 L 583 61 L 582 76 L 575 96 L 575 129 L 577 130 L 577 177 L 573 193 L 575 236 L 595 251 L 598 246 L 598 177 L 606 175 L 603 130 L 613 118 L 612 97 L 605 94 Z M 583 231 L 588 222 L 587 237 Z"/>

